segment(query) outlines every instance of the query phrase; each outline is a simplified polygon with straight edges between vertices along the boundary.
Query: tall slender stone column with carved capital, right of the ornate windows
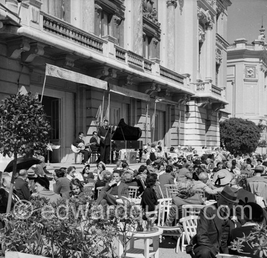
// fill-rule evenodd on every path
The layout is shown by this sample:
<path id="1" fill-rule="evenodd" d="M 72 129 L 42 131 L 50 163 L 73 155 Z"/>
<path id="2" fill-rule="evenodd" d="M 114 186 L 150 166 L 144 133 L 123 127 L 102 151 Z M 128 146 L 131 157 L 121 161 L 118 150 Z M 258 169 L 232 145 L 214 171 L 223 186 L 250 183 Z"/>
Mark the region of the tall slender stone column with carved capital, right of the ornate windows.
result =
<path id="1" fill-rule="evenodd" d="M 174 70 L 175 62 L 175 8 L 177 0 L 167 0 L 167 68 Z"/>

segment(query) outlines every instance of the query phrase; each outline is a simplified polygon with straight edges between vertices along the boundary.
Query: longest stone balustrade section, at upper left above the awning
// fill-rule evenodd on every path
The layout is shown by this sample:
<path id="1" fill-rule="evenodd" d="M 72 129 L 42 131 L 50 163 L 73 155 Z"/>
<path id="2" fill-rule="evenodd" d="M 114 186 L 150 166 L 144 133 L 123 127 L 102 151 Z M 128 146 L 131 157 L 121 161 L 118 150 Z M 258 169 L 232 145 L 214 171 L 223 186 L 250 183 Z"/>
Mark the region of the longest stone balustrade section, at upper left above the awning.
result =
<path id="1" fill-rule="evenodd" d="M 80 45 L 87 46 L 91 49 L 103 52 L 103 40 L 83 31 L 79 30 L 71 24 L 58 19 L 54 16 L 42 13 L 43 29 L 53 34 L 60 35 L 66 39 L 74 41 Z"/>

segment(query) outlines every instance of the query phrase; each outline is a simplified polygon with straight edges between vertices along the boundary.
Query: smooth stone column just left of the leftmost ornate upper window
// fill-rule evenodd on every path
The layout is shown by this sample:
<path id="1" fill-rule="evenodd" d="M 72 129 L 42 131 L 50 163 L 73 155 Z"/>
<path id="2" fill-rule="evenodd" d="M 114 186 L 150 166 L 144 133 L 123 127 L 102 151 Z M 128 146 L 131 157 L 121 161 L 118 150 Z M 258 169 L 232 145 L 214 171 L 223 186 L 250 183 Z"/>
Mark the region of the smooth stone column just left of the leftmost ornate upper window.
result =
<path id="1" fill-rule="evenodd" d="M 95 33 L 95 0 L 82 0 L 82 29 Z"/>

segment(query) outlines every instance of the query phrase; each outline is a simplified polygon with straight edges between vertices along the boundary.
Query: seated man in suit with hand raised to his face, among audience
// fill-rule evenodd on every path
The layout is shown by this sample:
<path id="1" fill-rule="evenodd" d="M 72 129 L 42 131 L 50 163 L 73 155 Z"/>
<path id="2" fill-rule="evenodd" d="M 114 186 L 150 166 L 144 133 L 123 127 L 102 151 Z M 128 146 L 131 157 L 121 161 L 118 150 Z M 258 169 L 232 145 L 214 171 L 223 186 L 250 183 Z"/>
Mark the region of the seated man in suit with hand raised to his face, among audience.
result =
<path id="1" fill-rule="evenodd" d="M 121 171 L 113 171 L 113 180 L 101 189 L 96 205 L 117 205 L 116 199 L 129 196 L 129 186 L 121 182 Z"/>

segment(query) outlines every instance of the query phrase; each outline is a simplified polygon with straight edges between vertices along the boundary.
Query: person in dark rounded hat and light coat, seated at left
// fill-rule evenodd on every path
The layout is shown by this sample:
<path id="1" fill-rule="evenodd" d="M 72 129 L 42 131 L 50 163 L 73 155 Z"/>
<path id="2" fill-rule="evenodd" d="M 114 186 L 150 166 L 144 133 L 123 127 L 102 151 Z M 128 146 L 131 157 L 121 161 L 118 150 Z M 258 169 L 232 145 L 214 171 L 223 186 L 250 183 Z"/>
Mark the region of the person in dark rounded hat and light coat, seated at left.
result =
<path id="1" fill-rule="evenodd" d="M 57 201 L 60 198 L 60 195 L 49 190 L 49 180 L 45 177 L 37 177 L 34 182 L 37 196 L 48 198 L 50 202 Z"/>

